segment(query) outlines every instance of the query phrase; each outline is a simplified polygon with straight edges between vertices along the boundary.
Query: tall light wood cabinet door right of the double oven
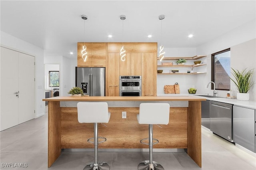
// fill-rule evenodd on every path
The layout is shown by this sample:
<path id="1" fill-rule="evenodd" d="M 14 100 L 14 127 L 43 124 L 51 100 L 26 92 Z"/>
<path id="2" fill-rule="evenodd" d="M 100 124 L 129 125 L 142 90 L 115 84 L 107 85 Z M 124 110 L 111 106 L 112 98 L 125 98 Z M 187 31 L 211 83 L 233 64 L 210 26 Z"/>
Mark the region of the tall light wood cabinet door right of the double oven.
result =
<path id="1" fill-rule="evenodd" d="M 156 96 L 157 53 L 142 53 L 142 96 Z"/>

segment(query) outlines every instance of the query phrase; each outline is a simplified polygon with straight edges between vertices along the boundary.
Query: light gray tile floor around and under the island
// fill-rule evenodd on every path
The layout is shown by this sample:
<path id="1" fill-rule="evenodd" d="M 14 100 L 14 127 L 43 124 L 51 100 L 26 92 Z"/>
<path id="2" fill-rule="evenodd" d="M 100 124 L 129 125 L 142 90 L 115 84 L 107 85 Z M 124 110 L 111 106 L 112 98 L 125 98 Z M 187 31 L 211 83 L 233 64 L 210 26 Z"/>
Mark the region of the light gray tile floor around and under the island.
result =
<path id="1" fill-rule="evenodd" d="M 93 152 L 62 152 L 54 164 L 47 168 L 47 108 L 46 115 L 0 132 L 1 170 L 82 170 L 94 160 Z M 234 144 L 202 128 L 202 168 L 185 152 L 154 152 L 153 159 L 165 170 L 255 170 L 256 158 Z M 136 170 L 147 152 L 100 152 L 111 170 Z M 13 163 L 12 168 L 4 167 Z M 15 163 L 23 163 L 17 168 Z"/>

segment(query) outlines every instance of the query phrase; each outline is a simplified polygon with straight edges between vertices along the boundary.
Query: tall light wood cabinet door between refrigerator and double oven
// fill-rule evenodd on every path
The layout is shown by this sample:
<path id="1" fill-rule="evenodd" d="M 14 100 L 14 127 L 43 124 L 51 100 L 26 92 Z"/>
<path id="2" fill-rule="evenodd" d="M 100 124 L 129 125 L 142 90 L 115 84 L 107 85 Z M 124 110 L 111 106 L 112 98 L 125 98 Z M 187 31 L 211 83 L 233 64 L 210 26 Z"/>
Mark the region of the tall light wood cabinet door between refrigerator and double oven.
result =
<path id="1" fill-rule="evenodd" d="M 108 53 L 106 96 L 119 96 L 119 53 Z"/>

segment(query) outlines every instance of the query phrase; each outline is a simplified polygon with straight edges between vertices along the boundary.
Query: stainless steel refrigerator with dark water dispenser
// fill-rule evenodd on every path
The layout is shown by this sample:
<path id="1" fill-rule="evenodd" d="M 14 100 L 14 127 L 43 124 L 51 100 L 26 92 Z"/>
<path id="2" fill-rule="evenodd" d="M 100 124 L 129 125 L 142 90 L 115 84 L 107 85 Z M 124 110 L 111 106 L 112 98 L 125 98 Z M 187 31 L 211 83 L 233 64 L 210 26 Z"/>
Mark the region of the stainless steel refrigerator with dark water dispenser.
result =
<path id="1" fill-rule="evenodd" d="M 84 95 L 105 96 L 105 68 L 76 67 L 76 87 Z"/>

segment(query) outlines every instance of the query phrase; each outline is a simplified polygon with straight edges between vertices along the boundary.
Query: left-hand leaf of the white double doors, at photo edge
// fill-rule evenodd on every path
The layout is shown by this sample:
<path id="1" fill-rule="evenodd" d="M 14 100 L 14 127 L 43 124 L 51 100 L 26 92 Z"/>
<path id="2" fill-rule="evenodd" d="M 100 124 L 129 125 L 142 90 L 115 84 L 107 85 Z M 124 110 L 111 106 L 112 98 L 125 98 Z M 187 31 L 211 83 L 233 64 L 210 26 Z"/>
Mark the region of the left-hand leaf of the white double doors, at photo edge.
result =
<path id="1" fill-rule="evenodd" d="M 18 52 L 1 47 L 1 130 L 18 125 Z"/>

